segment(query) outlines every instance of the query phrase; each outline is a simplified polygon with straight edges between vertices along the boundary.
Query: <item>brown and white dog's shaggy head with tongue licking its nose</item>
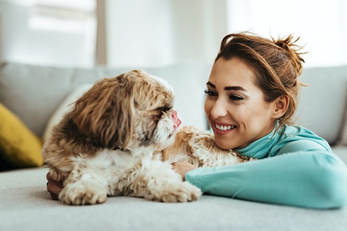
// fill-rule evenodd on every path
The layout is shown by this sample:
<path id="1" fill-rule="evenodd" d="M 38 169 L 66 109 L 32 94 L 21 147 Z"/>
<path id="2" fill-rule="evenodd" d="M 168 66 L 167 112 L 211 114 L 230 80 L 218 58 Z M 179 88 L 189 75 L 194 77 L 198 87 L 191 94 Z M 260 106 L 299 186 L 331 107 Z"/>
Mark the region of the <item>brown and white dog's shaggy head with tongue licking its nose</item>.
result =
<path id="1" fill-rule="evenodd" d="M 160 150 L 173 142 L 180 124 L 173 99 L 164 80 L 134 70 L 98 81 L 68 116 L 98 146 Z"/>

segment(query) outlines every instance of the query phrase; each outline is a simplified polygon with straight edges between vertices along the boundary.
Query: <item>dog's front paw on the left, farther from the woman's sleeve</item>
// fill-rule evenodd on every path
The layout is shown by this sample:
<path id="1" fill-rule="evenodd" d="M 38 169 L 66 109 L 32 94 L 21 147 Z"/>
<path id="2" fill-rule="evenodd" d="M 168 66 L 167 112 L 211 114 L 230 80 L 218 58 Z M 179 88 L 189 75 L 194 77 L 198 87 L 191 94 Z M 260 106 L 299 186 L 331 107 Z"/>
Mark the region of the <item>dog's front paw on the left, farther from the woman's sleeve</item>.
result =
<path id="1" fill-rule="evenodd" d="M 68 205 L 92 205 L 104 203 L 107 200 L 107 194 L 99 185 L 93 187 L 93 185 L 73 183 L 61 190 L 59 200 Z"/>

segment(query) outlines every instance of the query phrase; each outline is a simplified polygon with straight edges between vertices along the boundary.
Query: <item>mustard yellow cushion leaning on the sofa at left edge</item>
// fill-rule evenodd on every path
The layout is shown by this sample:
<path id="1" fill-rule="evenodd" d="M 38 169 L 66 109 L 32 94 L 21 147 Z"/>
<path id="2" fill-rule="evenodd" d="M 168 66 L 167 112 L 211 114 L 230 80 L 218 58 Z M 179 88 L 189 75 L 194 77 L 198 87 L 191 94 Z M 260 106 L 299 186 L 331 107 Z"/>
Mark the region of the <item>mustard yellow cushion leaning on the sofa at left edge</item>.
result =
<path id="1" fill-rule="evenodd" d="M 37 167 L 44 163 L 42 142 L 0 103 L 0 155 L 12 167 Z"/>

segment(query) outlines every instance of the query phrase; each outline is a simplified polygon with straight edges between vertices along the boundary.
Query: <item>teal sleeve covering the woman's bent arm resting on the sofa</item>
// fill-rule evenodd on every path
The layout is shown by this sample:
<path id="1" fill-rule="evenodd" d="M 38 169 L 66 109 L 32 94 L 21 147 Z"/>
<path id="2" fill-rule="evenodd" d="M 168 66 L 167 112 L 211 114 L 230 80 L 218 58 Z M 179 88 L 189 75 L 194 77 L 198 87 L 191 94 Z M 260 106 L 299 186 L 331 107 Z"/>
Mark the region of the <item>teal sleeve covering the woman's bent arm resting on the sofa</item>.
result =
<path id="1" fill-rule="evenodd" d="M 347 167 L 324 150 L 198 168 L 185 178 L 205 193 L 232 198 L 310 208 L 347 204 Z"/>

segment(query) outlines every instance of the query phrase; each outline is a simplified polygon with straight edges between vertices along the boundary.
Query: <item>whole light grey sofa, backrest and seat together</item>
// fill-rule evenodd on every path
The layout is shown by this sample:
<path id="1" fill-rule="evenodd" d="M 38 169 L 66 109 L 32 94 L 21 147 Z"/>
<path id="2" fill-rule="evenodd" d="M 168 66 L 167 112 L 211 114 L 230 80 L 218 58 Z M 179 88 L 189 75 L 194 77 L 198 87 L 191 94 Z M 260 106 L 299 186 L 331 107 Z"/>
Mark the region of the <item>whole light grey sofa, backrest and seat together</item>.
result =
<path id="1" fill-rule="evenodd" d="M 17 63 L 0 66 L 0 103 L 38 137 L 66 95 L 76 87 L 133 68 L 57 68 Z M 203 112 L 211 65 L 144 68 L 173 85 L 183 125 L 207 128 Z M 347 66 L 304 70 L 297 122 L 332 145 L 347 163 Z M 346 125 L 346 126 L 345 126 Z M 0 173 L 0 231 L 37 230 L 235 230 L 345 231 L 347 206 L 313 210 L 204 195 L 191 203 L 112 197 L 105 204 L 66 206 L 51 200 L 47 169 Z"/>

